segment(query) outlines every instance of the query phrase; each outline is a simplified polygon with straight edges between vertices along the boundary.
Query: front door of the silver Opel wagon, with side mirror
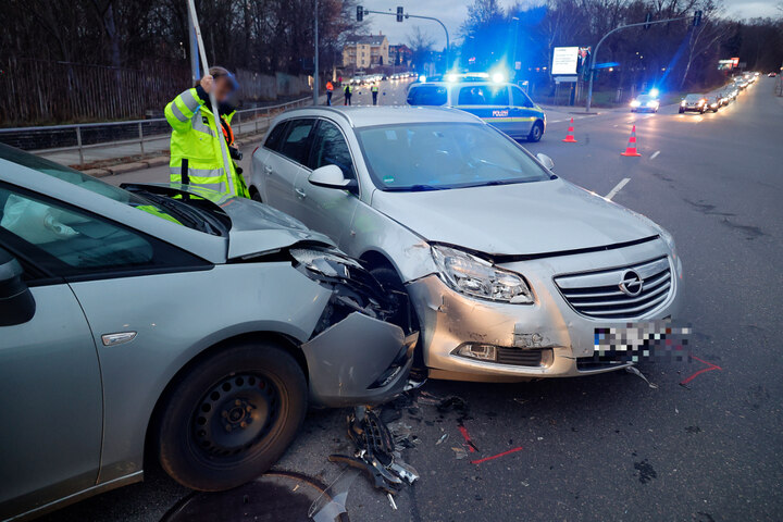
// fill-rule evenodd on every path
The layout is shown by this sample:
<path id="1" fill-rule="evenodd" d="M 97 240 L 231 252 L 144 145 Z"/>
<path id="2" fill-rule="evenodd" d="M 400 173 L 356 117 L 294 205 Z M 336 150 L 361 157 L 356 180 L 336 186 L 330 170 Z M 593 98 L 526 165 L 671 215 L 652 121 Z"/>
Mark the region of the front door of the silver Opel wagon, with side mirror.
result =
<path id="1" fill-rule="evenodd" d="M 320 120 L 308 166 L 314 171 L 325 165 L 337 165 L 346 179 L 357 179 L 353 158 L 343 130 L 333 122 Z M 310 228 L 326 234 L 339 244 L 359 203 L 359 188 L 351 191 L 316 187 L 309 183 L 309 174 L 310 171 L 296 181 L 295 192 L 299 208 L 294 215 Z"/>

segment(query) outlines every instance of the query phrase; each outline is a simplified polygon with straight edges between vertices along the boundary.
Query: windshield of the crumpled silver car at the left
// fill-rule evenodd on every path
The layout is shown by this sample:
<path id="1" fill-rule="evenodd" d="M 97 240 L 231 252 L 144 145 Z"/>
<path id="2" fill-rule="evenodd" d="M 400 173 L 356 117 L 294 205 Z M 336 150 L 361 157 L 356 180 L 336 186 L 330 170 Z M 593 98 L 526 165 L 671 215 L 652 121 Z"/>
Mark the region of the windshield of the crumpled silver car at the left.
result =
<path id="1" fill-rule="evenodd" d="M 141 210 L 152 215 L 157 215 L 166 221 L 177 223 L 190 228 L 203 229 L 203 224 L 196 222 L 191 216 L 177 212 L 176 209 L 167 208 L 160 203 L 154 203 L 147 198 L 142 198 L 136 194 L 132 194 L 120 187 L 109 185 L 96 177 L 83 172 L 70 169 L 67 166 L 54 163 L 53 161 L 24 152 L 22 150 L 0 145 L 0 160 L 7 160 L 28 169 L 48 174 L 63 182 L 90 190 L 91 192 L 105 196 L 114 201 L 125 203 L 135 209 Z"/>

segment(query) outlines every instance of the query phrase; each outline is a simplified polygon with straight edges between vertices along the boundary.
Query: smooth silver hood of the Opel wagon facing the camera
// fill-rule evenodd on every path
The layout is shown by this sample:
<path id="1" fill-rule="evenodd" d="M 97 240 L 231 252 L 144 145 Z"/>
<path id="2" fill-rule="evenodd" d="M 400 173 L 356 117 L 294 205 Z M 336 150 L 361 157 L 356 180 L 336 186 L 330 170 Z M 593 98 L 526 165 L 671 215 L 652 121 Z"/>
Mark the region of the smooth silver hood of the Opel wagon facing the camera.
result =
<path id="1" fill-rule="evenodd" d="M 659 233 L 646 217 L 560 178 L 421 192 L 375 190 L 372 206 L 427 241 L 532 256 Z"/>

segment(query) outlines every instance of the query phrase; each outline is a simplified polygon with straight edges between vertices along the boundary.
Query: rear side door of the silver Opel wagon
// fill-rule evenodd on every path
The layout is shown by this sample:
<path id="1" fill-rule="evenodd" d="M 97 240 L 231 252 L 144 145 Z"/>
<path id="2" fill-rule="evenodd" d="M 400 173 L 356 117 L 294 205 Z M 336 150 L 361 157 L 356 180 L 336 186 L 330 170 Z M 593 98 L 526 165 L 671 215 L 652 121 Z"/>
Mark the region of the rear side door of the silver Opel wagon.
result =
<path id="1" fill-rule="evenodd" d="M 310 157 L 310 145 L 315 134 L 315 119 L 295 119 L 286 122 L 285 132 L 275 150 L 271 150 L 263 165 L 265 203 L 297 216 L 299 209 L 295 196 L 297 176 L 301 175 Z"/>

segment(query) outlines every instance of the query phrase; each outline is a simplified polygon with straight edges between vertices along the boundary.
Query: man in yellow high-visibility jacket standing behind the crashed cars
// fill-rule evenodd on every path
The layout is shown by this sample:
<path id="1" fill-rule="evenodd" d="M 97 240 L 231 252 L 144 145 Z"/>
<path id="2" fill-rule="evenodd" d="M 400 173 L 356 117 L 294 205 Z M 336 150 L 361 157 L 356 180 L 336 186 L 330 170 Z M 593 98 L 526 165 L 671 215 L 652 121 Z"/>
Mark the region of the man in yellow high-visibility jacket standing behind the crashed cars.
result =
<path id="1" fill-rule="evenodd" d="M 172 183 L 197 185 L 229 196 L 250 197 L 241 169 L 235 162 L 241 159 L 241 153 L 235 147 L 231 128 L 235 111 L 227 103 L 237 87 L 236 79 L 228 71 L 210 67 L 196 87 L 184 91 L 166 105 L 165 117 L 173 129 L 169 163 Z M 212 89 L 219 104 L 220 128 L 215 124 L 215 111 L 209 100 Z M 220 139 L 226 140 L 231 153 L 232 172 L 228 175 L 234 179 L 234 194 L 229 194 Z"/>

